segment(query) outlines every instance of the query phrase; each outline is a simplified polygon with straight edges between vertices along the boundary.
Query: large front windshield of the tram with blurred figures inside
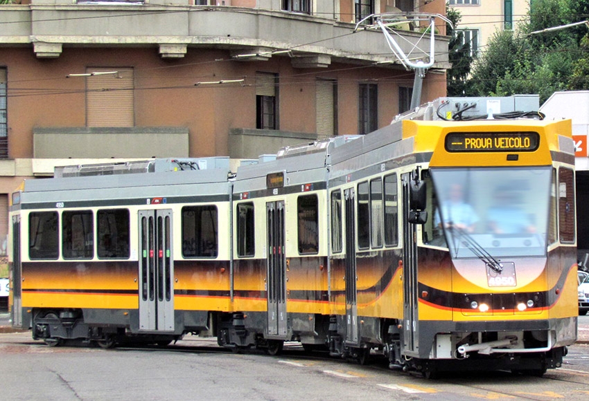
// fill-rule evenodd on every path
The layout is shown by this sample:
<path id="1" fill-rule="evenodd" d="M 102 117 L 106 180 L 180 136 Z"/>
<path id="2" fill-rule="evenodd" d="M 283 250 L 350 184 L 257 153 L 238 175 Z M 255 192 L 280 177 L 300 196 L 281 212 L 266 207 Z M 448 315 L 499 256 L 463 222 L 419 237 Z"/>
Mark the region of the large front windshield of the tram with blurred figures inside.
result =
<path id="1" fill-rule="evenodd" d="M 446 239 L 452 257 L 546 254 L 551 167 L 430 172 L 437 197 L 432 230 Z"/>

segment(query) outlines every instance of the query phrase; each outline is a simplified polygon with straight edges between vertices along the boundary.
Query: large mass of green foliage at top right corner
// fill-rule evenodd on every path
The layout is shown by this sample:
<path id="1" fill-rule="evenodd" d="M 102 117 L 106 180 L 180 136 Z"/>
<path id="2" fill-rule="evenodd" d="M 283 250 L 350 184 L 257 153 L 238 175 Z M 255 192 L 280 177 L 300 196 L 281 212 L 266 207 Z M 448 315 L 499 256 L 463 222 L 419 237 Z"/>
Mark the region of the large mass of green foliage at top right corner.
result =
<path id="1" fill-rule="evenodd" d="M 554 91 L 589 89 L 587 26 L 534 33 L 584 21 L 587 0 L 534 0 L 529 21 L 518 33 L 497 32 L 473 66 L 466 95 L 538 93 L 544 102 Z"/>

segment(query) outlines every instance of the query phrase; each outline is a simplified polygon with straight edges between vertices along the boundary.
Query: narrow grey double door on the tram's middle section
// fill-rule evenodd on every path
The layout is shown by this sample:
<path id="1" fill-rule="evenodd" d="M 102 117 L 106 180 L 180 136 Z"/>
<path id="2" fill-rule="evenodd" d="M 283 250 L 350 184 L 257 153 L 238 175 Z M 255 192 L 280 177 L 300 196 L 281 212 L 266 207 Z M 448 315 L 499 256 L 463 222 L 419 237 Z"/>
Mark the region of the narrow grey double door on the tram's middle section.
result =
<path id="1" fill-rule="evenodd" d="M 268 335 L 285 336 L 286 320 L 286 257 L 284 201 L 266 203 Z"/>

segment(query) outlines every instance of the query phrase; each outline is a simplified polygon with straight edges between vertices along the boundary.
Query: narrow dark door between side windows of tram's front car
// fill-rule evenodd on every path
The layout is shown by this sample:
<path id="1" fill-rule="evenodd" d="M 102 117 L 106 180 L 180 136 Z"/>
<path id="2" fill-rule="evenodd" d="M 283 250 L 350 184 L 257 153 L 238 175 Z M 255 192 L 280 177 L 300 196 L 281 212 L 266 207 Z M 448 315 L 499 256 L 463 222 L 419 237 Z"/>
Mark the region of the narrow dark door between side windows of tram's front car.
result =
<path id="1" fill-rule="evenodd" d="M 358 344 L 358 273 L 355 248 L 355 191 L 344 190 L 346 207 L 346 343 Z"/>

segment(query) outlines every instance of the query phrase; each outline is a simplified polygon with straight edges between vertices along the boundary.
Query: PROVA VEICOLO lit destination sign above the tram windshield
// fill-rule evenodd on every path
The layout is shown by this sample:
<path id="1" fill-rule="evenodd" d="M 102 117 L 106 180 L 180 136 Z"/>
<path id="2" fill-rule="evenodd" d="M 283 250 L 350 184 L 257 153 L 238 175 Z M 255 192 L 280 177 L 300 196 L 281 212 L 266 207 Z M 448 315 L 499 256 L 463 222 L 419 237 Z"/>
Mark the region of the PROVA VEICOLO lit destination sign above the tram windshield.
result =
<path id="1" fill-rule="evenodd" d="M 449 152 L 535 151 L 537 132 L 452 132 L 446 136 Z"/>

